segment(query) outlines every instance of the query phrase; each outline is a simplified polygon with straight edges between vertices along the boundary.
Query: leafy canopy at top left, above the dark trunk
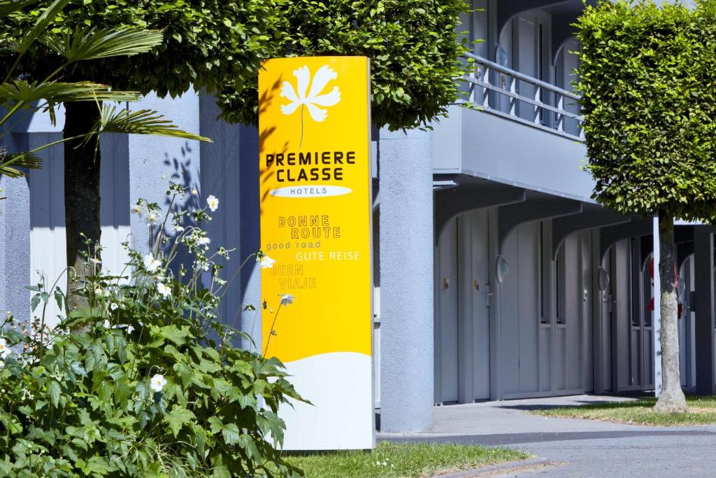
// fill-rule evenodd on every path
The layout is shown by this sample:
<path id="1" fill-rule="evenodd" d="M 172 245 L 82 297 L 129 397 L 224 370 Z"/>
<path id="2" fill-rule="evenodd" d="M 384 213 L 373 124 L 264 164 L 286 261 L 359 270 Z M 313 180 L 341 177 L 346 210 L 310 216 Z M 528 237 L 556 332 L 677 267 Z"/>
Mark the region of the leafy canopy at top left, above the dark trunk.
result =
<path id="1" fill-rule="evenodd" d="M 76 29 L 158 29 L 164 42 L 149 54 L 82 64 L 77 77 L 146 94 L 176 96 L 190 89 L 216 91 L 223 83 L 256 75 L 268 57 L 268 31 L 278 31 L 271 2 L 262 0 L 70 0 L 52 28 L 59 34 Z M 41 11 L 24 9 L 11 16 L 9 39 L 22 37 Z M 1 37 L 0 37 L 1 38 Z M 41 51 L 28 59 L 26 71 L 39 75 L 51 68 Z"/>

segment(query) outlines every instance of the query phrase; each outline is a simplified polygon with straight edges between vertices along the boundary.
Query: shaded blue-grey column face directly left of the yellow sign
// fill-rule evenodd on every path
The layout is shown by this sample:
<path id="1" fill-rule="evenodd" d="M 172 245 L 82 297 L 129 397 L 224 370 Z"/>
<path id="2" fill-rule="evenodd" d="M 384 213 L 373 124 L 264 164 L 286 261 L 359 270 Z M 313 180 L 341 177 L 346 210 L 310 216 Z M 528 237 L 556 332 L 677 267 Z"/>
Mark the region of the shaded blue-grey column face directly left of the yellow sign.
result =
<path id="1" fill-rule="evenodd" d="M 200 98 L 201 135 L 213 143 L 201 143 L 201 191 L 219 199 L 219 209 L 212 214 L 208 233 L 212 244 L 235 248 L 228 262 L 222 262 L 221 277 L 228 282 L 223 298 L 221 321 L 261 343 L 261 277 L 256 261 L 249 260 L 239 272 L 241 263 L 260 247 L 258 206 L 258 131 L 253 127 L 229 125 L 217 120 L 220 113 L 216 98 Z M 256 311 L 243 311 L 251 304 Z M 241 346 L 251 348 L 251 340 Z"/>

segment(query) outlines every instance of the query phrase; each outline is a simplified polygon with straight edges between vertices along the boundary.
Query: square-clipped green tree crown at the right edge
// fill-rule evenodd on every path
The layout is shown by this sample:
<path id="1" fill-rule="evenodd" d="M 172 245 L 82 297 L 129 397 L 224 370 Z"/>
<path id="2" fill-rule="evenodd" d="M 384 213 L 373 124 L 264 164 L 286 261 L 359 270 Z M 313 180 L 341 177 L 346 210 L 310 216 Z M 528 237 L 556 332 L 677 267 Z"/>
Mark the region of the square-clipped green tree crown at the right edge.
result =
<path id="1" fill-rule="evenodd" d="M 579 18 L 594 197 L 622 213 L 716 211 L 716 4 L 602 1 Z"/>

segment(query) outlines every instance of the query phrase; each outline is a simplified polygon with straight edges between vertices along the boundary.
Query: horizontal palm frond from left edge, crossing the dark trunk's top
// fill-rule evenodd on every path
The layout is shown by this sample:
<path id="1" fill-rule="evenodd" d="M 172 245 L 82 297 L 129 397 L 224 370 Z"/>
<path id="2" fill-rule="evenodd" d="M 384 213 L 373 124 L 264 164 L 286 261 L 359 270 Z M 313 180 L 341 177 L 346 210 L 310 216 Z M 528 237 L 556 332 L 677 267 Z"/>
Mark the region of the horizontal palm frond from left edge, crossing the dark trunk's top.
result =
<path id="1" fill-rule="evenodd" d="M 0 83 L 0 105 L 13 102 L 30 103 L 47 100 L 49 103 L 67 101 L 137 101 L 138 92 L 110 91 L 107 85 L 92 82 L 28 82 L 14 80 Z"/>

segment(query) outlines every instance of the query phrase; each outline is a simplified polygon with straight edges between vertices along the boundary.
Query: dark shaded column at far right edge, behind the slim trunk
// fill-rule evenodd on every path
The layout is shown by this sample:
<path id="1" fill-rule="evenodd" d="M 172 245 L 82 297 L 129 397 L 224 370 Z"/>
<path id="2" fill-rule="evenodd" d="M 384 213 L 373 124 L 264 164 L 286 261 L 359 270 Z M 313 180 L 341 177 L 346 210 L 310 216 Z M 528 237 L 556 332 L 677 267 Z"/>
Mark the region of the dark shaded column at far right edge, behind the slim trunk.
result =
<path id="1" fill-rule="evenodd" d="M 713 395 L 714 370 L 714 297 L 713 264 L 714 235 L 709 226 L 694 226 L 694 285 L 695 285 L 695 342 L 696 393 Z"/>

